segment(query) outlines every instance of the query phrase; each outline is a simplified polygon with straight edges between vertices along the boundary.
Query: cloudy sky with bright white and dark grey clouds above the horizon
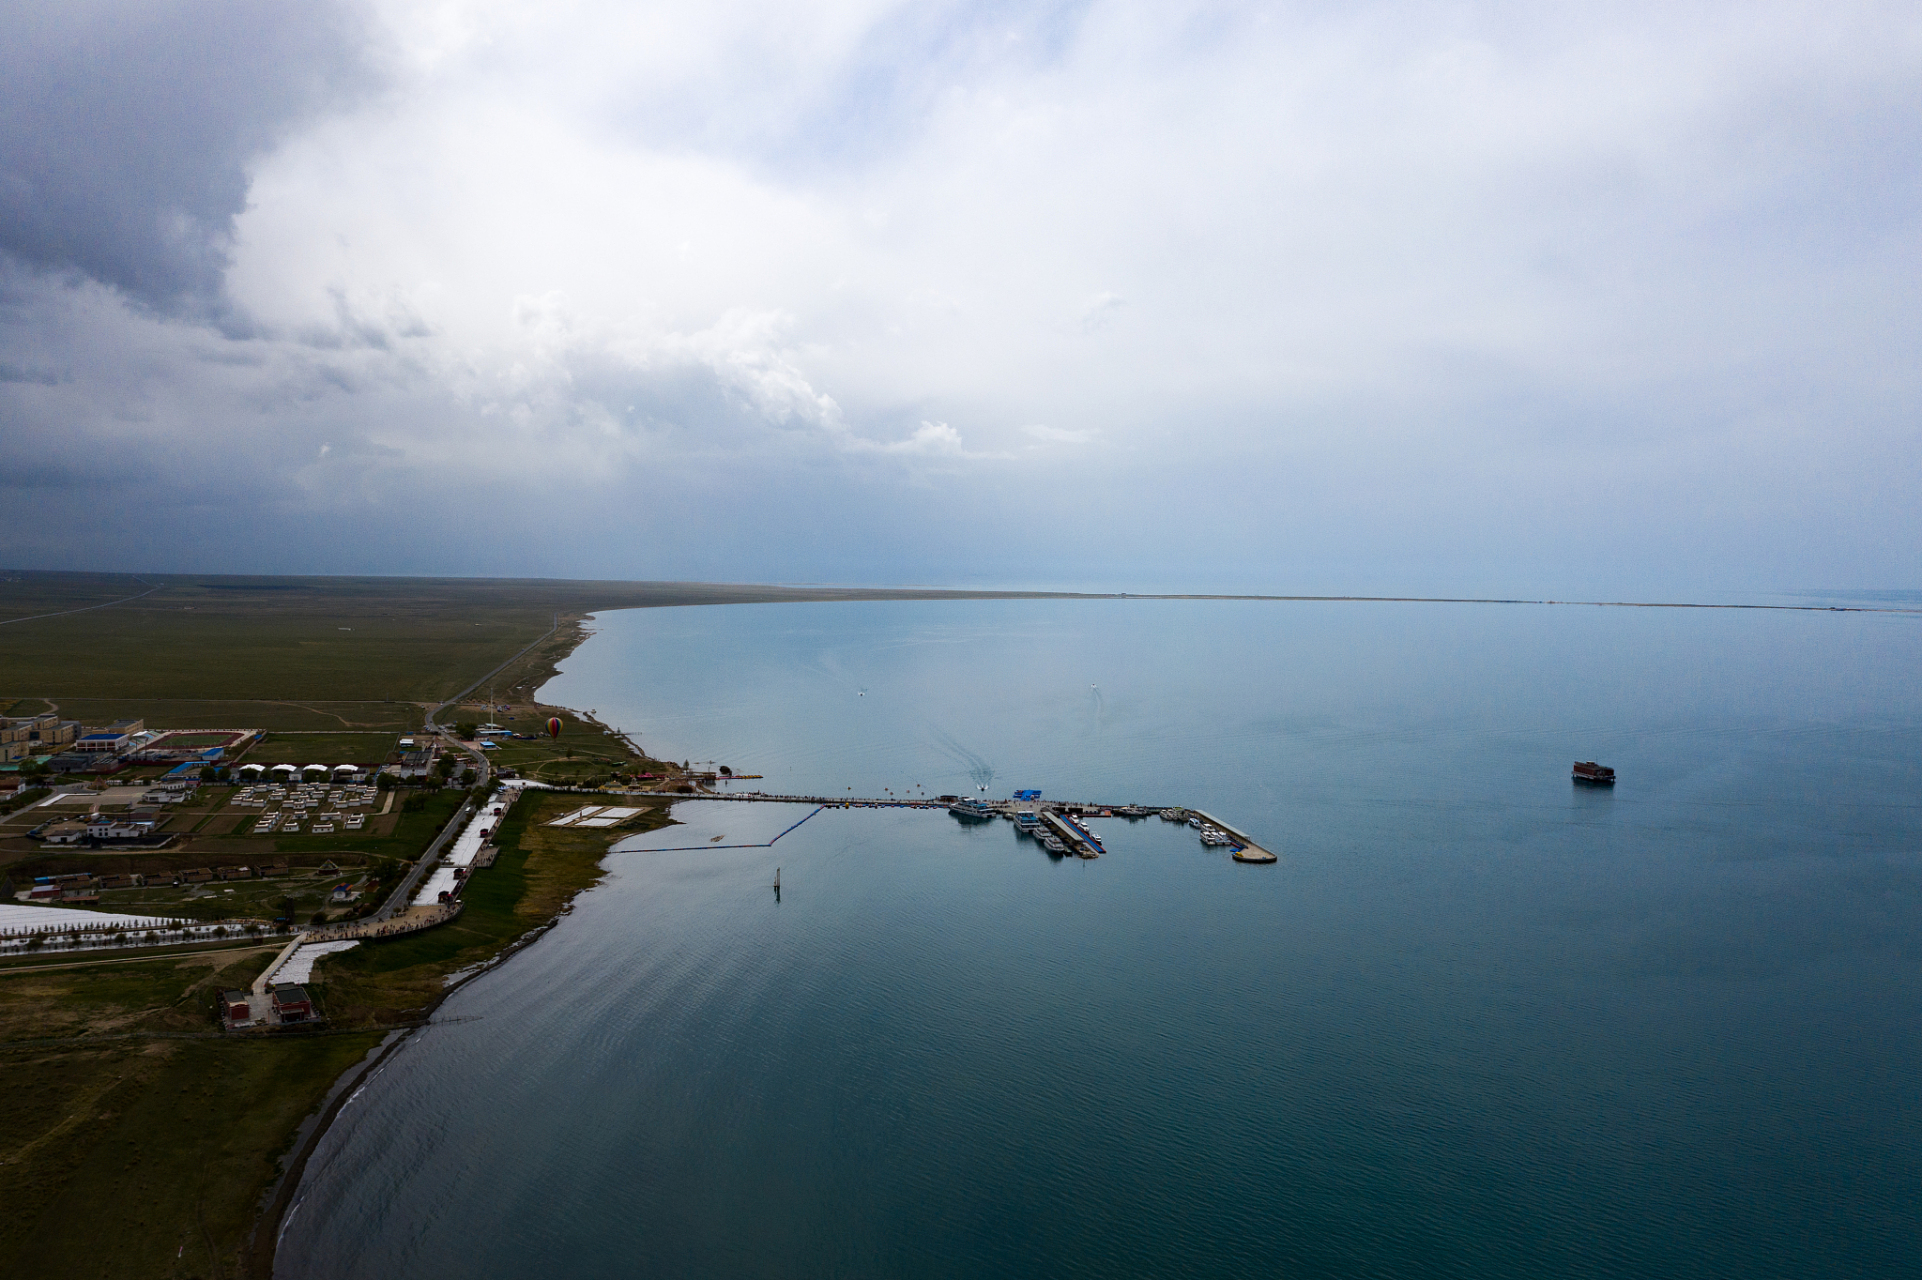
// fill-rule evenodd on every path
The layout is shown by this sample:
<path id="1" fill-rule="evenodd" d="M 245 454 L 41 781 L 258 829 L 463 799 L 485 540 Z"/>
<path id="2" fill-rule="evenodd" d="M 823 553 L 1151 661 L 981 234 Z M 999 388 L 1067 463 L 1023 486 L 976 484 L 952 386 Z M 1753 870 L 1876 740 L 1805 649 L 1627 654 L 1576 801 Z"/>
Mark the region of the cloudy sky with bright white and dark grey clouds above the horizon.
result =
<path id="1" fill-rule="evenodd" d="M 1914 588 L 1914 4 L 4 0 L 0 563 Z"/>

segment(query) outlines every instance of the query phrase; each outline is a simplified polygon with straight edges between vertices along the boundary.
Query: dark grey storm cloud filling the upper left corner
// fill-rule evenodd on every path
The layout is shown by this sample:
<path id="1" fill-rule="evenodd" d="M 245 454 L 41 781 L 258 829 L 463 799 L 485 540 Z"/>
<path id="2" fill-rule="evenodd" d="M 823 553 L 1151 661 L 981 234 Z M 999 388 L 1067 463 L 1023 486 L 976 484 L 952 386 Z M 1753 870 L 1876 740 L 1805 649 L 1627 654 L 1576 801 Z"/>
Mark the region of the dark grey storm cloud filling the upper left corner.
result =
<path id="1" fill-rule="evenodd" d="M 248 161 L 363 88 L 338 2 L 15 4 L 0 40 L 0 252 L 160 309 L 213 300 Z"/>

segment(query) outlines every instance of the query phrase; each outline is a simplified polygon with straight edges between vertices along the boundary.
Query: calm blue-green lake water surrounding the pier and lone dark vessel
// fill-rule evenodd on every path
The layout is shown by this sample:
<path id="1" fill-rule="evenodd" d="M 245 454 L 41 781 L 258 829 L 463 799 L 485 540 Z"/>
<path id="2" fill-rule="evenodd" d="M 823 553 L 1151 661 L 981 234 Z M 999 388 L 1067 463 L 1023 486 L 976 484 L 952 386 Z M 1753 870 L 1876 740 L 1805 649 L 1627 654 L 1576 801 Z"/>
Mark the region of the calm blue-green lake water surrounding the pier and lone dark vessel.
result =
<path id="1" fill-rule="evenodd" d="M 279 1274 L 1922 1274 L 1918 627 L 604 615 L 544 698 L 657 755 L 1282 861 L 896 809 L 613 853 L 342 1113 Z M 807 813 L 746 809 L 669 842 Z"/>

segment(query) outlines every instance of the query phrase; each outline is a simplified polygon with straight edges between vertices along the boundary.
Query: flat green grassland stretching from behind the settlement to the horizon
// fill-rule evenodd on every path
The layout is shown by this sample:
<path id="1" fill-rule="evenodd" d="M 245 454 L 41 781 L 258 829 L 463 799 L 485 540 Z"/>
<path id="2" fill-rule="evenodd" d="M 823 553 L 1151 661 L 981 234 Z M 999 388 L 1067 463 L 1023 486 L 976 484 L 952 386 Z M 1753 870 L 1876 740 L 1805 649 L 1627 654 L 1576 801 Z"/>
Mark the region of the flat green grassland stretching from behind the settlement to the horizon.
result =
<path id="1" fill-rule="evenodd" d="M 152 594 L 86 613 L 58 609 Z M 10 573 L 0 578 L 0 705 L 75 713 L 133 711 L 158 726 L 277 728 L 254 703 L 304 711 L 331 703 L 434 703 L 509 661 L 554 628 L 598 609 L 784 600 L 901 600 L 1005 592 L 894 592 L 702 582 L 555 578 L 250 578 L 215 575 Z M 1021 592 L 1017 592 L 1021 594 Z M 559 638 L 548 657 L 573 648 Z M 525 696 L 525 680 L 515 675 Z M 505 700 L 515 682 L 502 682 Z M 177 703 L 211 703 L 211 707 Z M 238 705 L 236 705 L 238 703 Z M 208 713 L 223 711 L 219 725 Z M 348 713 L 354 728 L 369 723 Z M 417 723 L 417 721 L 415 721 Z M 404 726 L 404 725 L 402 725 Z"/>

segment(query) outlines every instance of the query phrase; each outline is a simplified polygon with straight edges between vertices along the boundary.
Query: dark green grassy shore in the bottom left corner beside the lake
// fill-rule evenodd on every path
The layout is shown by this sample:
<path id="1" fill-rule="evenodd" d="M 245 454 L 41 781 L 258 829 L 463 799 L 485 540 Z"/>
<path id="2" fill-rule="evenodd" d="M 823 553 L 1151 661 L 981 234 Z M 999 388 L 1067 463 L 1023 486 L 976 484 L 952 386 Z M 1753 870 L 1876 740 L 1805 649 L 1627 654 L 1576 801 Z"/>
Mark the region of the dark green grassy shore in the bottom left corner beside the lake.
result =
<path id="1" fill-rule="evenodd" d="M 213 994 L 271 955 L 0 969 L 4 1274 L 240 1274 L 300 1119 L 381 1038 L 211 1032 Z"/>

